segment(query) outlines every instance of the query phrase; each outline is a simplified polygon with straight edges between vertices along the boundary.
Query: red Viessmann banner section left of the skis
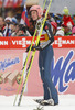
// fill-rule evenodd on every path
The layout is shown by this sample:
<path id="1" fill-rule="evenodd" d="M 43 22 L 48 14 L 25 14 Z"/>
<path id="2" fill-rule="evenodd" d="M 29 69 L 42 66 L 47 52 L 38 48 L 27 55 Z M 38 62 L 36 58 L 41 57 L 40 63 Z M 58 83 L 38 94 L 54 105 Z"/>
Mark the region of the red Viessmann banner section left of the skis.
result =
<path id="1" fill-rule="evenodd" d="M 7 40 L 0 40 L 0 46 L 2 47 L 26 47 L 28 45 L 30 45 L 32 43 L 32 37 L 10 37 L 10 38 L 7 38 Z M 35 44 L 35 40 L 33 42 L 33 44 Z"/>

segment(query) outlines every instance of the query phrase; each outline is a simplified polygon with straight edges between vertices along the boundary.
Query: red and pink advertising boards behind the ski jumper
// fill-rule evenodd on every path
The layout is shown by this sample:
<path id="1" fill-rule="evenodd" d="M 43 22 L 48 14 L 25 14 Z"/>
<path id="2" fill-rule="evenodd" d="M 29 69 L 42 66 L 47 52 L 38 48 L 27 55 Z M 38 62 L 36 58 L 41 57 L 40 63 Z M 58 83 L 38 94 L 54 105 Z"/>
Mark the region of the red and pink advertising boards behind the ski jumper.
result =
<path id="1" fill-rule="evenodd" d="M 31 42 L 32 36 L 0 37 L 0 95 L 10 96 L 17 94 L 23 64 L 28 55 L 25 48 Z M 75 94 L 75 37 L 55 36 L 53 47 L 54 58 L 51 66 L 52 80 L 58 94 Z M 26 69 L 23 80 L 25 75 Z M 43 95 L 42 80 L 39 72 L 39 52 L 35 53 L 24 95 Z"/>

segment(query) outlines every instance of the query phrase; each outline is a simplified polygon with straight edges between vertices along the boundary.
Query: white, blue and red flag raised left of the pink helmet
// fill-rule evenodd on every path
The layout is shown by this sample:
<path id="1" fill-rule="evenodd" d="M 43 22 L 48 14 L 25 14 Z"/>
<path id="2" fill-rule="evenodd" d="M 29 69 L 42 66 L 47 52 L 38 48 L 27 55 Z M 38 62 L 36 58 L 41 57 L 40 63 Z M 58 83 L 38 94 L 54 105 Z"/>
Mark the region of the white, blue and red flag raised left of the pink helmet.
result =
<path id="1" fill-rule="evenodd" d="M 28 11 L 26 11 L 25 4 L 24 4 L 23 12 L 22 12 L 20 24 L 25 24 L 26 26 L 29 26 Z"/>

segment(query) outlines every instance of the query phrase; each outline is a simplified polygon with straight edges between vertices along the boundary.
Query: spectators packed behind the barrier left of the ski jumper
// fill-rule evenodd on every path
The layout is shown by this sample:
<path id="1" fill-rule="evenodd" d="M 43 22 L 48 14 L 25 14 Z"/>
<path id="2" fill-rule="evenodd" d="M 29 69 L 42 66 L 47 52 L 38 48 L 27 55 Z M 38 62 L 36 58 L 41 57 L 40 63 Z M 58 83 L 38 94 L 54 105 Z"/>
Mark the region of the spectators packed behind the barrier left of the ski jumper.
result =
<path id="1" fill-rule="evenodd" d="M 0 16 L 0 36 L 30 36 L 24 24 L 20 24 L 13 16 L 7 16 L 3 19 Z"/>

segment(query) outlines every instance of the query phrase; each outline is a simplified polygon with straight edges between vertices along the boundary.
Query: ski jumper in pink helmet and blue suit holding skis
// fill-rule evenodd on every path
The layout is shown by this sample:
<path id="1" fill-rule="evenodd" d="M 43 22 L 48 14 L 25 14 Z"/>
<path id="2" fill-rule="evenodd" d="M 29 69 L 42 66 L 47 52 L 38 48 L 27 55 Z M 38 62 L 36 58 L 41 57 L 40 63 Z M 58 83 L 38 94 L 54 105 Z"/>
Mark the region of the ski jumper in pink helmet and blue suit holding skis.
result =
<path id="1" fill-rule="evenodd" d="M 33 21 L 36 21 L 36 24 L 35 24 L 35 26 L 38 28 L 36 34 L 39 35 L 40 30 L 41 30 L 41 23 L 43 20 L 41 7 L 33 6 L 30 8 L 30 12 L 31 12 L 31 18 L 33 19 Z M 32 50 L 40 51 L 39 67 L 40 67 L 41 79 L 43 81 L 44 100 L 53 99 L 54 105 L 57 105 L 58 96 L 57 96 L 56 88 L 54 84 L 52 82 L 52 78 L 51 78 L 51 63 L 53 61 L 53 55 L 54 55 L 53 47 L 51 44 L 54 42 L 54 35 L 52 33 L 51 23 L 49 23 L 47 21 L 44 24 L 43 33 L 45 34 L 44 37 L 42 36 L 40 38 L 39 45 L 38 46 L 34 45 Z"/>

